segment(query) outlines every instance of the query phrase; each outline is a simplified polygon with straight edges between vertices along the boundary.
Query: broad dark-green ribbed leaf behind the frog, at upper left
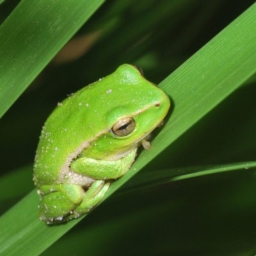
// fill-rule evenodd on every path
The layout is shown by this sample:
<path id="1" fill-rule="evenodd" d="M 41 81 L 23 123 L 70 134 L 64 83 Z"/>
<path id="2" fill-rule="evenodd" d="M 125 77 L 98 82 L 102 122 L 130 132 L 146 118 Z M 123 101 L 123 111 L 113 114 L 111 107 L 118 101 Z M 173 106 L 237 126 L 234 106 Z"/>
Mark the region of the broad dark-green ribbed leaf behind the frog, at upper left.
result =
<path id="1" fill-rule="evenodd" d="M 0 27 L 0 117 L 103 2 L 20 2 Z"/>

